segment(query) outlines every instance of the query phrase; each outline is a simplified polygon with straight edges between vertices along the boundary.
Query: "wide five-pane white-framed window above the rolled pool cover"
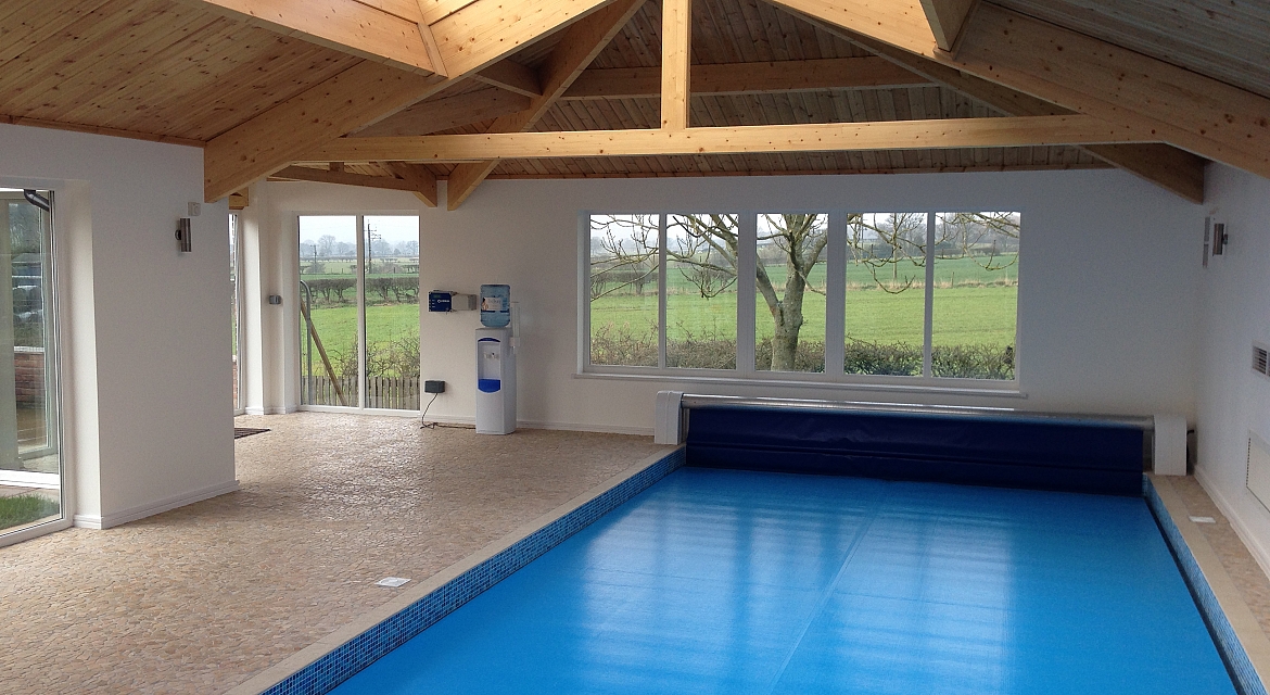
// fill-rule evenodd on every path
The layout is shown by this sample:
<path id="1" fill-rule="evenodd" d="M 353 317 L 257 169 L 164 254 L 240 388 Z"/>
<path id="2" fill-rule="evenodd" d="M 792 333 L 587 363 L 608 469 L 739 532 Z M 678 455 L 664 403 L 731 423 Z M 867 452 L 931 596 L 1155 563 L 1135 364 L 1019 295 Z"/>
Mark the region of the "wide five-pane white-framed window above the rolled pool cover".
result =
<path id="1" fill-rule="evenodd" d="M 583 368 L 1016 377 L 1019 212 L 591 213 Z"/>

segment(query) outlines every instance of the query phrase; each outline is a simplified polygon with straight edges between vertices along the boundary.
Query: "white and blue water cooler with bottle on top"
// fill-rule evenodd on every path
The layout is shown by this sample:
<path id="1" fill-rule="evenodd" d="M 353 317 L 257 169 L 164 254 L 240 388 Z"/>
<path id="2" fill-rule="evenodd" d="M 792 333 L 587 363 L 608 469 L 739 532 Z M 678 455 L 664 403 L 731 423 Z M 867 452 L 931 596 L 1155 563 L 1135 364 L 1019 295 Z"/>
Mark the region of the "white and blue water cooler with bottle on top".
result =
<path id="1" fill-rule="evenodd" d="M 507 285 L 481 285 L 476 329 L 476 433 L 516 432 L 516 346 Z"/>

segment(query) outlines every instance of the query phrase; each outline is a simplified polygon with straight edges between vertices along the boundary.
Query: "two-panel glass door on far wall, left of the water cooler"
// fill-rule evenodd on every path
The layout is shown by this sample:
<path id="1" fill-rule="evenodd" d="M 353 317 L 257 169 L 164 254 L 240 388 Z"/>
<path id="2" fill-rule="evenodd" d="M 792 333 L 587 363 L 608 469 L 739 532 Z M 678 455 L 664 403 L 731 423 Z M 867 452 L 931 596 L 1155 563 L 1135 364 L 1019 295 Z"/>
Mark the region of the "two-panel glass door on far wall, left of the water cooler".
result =
<path id="1" fill-rule="evenodd" d="M 300 216 L 300 403 L 419 409 L 419 219 Z"/>

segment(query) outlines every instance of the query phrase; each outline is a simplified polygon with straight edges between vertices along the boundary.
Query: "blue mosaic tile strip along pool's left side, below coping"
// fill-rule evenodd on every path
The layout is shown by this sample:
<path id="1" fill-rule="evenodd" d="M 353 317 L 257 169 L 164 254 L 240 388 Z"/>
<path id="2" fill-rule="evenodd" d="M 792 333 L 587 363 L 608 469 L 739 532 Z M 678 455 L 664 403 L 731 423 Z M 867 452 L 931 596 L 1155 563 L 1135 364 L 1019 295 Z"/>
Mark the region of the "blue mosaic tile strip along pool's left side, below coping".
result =
<path id="1" fill-rule="evenodd" d="M 683 464 L 683 449 L 681 447 L 287 676 L 265 690 L 264 695 L 321 695 L 329 692 L 384 654 L 405 644 L 450 615 L 458 606 L 471 601 L 480 592 L 505 579 L 547 550 L 560 545 L 569 536 L 674 473 Z"/>

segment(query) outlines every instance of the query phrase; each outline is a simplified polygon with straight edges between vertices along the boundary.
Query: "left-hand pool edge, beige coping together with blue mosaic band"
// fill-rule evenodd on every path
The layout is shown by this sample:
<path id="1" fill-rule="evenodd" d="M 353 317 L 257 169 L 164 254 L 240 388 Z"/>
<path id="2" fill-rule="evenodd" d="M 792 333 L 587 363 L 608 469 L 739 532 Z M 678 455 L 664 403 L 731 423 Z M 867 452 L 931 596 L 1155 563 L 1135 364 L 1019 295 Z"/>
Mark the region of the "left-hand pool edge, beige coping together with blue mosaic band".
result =
<path id="1" fill-rule="evenodd" d="M 685 447 L 626 470 L 521 523 L 480 550 L 257 672 L 226 695 L 321 695 L 685 465 Z M 351 652 L 351 653 L 349 653 Z"/>

